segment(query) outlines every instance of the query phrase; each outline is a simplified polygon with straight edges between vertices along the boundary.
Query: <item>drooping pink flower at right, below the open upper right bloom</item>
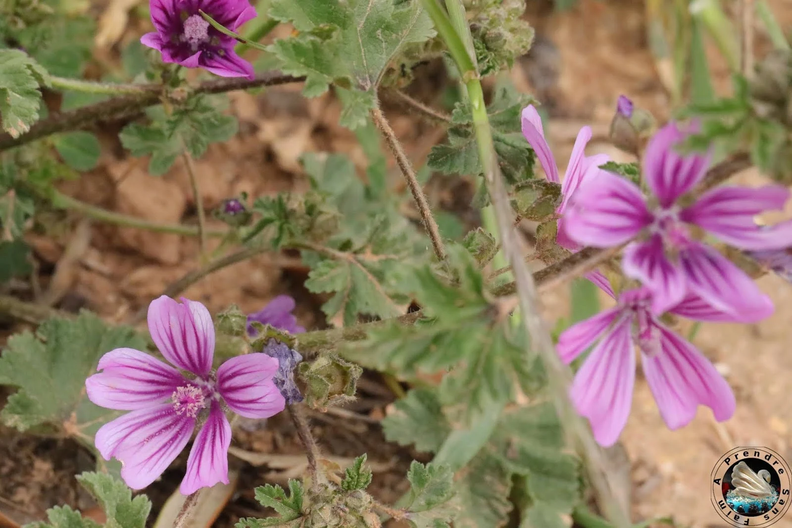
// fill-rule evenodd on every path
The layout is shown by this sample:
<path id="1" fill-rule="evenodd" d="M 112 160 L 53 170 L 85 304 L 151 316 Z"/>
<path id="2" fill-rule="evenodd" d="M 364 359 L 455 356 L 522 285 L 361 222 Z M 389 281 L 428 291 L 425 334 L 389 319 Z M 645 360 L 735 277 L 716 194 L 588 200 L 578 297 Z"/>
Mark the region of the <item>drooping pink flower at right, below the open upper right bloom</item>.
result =
<path id="1" fill-rule="evenodd" d="M 649 289 L 626 291 L 615 308 L 569 327 L 558 339 L 558 354 L 567 364 L 599 342 L 578 370 L 569 397 L 588 418 L 594 438 L 602 446 L 616 442 L 630 415 L 636 346 L 646 381 L 669 429 L 690 423 L 699 404 L 710 407 L 719 421 L 734 413 L 736 402 L 729 384 L 695 346 L 653 315 L 651 304 Z M 676 308 L 673 313 L 677 315 L 733 320 L 694 298 Z"/>

